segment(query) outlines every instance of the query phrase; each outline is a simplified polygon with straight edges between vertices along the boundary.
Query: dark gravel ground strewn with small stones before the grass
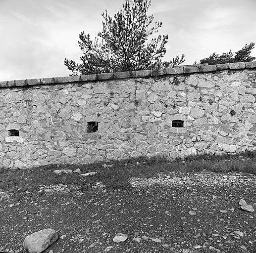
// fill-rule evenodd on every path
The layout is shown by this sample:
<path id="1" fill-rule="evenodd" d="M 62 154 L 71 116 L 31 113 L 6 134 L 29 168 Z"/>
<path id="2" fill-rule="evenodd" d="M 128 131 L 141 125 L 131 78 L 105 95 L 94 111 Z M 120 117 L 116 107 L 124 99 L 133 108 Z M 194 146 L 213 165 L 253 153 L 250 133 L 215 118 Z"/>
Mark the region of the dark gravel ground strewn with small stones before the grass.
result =
<path id="1" fill-rule="evenodd" d="M 0 192 L 0 249 L 25 253 L 25 236 L 53 228 L 46 253 L 256 253 L 256 176 L 243 173 L 159 174 L 131 178 L 130 187 L 86 191 L 41 185 L 35 192 Z M 114 243 L 118 233 L 128 239 Z"/>

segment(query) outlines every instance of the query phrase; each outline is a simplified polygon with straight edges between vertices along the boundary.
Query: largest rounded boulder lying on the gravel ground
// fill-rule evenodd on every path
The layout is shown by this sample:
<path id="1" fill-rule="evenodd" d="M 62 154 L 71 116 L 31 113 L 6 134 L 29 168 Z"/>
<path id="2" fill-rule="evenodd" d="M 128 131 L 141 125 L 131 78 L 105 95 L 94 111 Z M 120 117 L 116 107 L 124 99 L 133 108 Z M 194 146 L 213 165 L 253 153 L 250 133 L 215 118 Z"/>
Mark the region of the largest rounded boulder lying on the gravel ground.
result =
<path id="1" fill-rule="evenodd" d="M 58 234 L 55 230 L 47 228 L 28 235 L 23 242 L 23 247 L 29 253 L 41 253 L 55 243 L 57 239 Z"/>

